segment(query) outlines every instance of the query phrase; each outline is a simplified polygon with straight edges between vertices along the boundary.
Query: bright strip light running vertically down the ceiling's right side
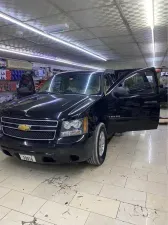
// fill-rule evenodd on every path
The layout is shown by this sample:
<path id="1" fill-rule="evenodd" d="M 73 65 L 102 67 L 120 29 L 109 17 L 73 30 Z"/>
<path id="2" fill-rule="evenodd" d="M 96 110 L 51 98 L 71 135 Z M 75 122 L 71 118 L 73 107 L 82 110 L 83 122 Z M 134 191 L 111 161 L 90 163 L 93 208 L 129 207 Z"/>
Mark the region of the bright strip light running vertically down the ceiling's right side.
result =
<path id="1" fill-rule="evenodd" d="M 146 9 L 148 25 L 150 26 L 151 32 L 152 32 L 153 66 L 155 67 L 154 0 L 145 0 L 145 9 Z"/>

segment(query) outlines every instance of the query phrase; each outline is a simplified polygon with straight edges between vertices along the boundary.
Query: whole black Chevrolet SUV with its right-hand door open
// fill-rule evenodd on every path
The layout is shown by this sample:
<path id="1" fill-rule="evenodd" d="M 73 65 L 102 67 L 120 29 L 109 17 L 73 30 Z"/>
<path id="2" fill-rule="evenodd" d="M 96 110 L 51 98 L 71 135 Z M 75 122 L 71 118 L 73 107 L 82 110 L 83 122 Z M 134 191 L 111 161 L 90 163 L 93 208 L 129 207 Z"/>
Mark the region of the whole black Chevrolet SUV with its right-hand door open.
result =
<path id="1" fill-rule="evenodd" d="M 32 84 L 33 85 L 33 84 Z M 31 86 L 29 84 L 29 86 Z M 18 90 L 19 95 L 22 89 Z M 32 92 L 34 88 L 31 86 Z M 114 81 L 104 72 L 65 72 L 0 111 L 2 151 L 38 163 L 101 165 L 115 132 L 156 129 L 159 88 L 154 68 Z"/>

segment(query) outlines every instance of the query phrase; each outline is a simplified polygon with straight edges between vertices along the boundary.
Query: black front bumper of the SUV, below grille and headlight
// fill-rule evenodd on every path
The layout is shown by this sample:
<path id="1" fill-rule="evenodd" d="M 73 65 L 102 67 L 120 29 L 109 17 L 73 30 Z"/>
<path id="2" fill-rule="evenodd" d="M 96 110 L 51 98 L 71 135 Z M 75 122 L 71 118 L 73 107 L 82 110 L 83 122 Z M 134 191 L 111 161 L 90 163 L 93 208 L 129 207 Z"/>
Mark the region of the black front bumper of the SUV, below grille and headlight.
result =
<path id="1" fill-rule="evenodd" d="M 70 141 L 71 140 L 71 141 Z M 83 135 L 57 141 L 25 141 L 3 135 L 0 138 L 3 153 L 20 159 L 19 154 L 33 155 L 37 163 L 82 162 L 92 155 L 93 137 Z"/>

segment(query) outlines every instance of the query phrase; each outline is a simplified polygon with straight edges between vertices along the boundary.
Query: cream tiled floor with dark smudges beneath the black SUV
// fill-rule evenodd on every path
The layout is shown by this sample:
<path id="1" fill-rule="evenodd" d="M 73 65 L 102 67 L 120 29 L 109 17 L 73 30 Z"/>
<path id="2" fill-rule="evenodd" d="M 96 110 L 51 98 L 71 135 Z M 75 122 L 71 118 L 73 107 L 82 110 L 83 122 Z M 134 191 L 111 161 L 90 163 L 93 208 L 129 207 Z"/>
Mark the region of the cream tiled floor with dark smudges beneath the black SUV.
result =
<path id="1" fill-rule="evenodd" d="M 168 225 L 168 126 L 116 135 L 101 167 L 0 153 L 0 225 Z"/>

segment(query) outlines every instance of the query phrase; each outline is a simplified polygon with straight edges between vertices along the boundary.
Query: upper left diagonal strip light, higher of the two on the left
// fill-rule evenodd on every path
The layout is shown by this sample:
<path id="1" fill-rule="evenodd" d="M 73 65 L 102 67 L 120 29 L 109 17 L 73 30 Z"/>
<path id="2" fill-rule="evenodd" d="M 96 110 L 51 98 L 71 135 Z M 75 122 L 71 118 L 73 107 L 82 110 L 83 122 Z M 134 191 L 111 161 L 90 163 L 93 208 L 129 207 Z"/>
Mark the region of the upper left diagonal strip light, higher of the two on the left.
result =
<path id="1" fill-rule="evenodd" d="M 66 46 L 71 47 L 71 48 L 74 48 L 74 49 L 76 49 L 76 50 L 79 50 L 79 51 L 81 51 L 81 52 L 84 52 L 84 53 L 86 53 L 86 54 L 88 54 L 88 55 L 91 55 L 91 56 L 93 56 L 93 57 L 95 57 L 95 58 L 98 58 L 98 59 L 101 59 L 101 60 L 103 60 L 103 61 L 107 61 L 107 59 L 104 58 L 103 56 L 97 55 L 97 54 L 95 54 L 95 53 L 93 53 L 93 52 L 90 52 L 90 51 L 88 51 L 88 50 L 86 50 L 86 49 L 84 49 L 84 48 L 81 48 L 81 47 L 79 47 L 79 46 L 77 46 L 77 45 L 74 45 L 74 44 L 68 43 L 67 41 L 64 41 L 64 40 L 61 40 L 61 39 L 59 39 L 59 38 L 56 38 L 56 37 L 54 37 L 54 36 L 52 36 L 52 35 L 50 35 L 50 34 L 47 34 L 47 33 L 43 32 L 43 31 L 41 31 L 41 30 L 38 30 L 38 29 L 36 29 L 35 27 L 32 27 L 32 26 L 30 26 L 30 25 L 28 25 L 28 24 L 25 24 L 25 23 L 23 23 L 23 22 L 21 22 L 21 21 L 15 19 L 15 18 L 13 18 L 13 17 L 11 17 L 11 16 L 8 16 L 8 15 L 2 13 L 2 12 L 0 12 L 0 17 L 3 18 L 3 19 L 5 19 L 5 20 L 8 20 L 8 21 L 10 21 L 10 22 L 12 22 L 12 23 L 14 23 L 14 24 L 17 24 L 18 26 L 21 26 L 21 27 L 23 27 L 23 28 L 25 28 L 25 29 L 27 29 L 27 30 L 30 30 L 30 31 L 32 31 L 32 32 L 34 32 L 34 33 L 36 33 L 36 34 L 39 34 L 39 35 L 41 35 L 41 36 L 43 36 L 43 37 L 46 37 L 46 38 L 48 38 L 48 39 L 51 39 L 51 40 L 53 40 L 53 41 L 55 41 L 55 42 L 58 42 L 58 43 L 60 43 L 60 44 L 66 45 Z"/>

